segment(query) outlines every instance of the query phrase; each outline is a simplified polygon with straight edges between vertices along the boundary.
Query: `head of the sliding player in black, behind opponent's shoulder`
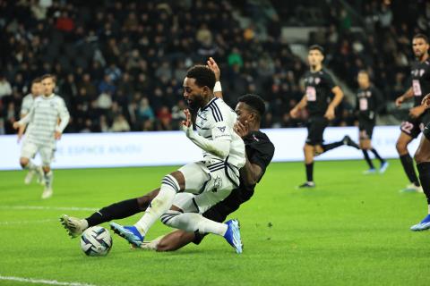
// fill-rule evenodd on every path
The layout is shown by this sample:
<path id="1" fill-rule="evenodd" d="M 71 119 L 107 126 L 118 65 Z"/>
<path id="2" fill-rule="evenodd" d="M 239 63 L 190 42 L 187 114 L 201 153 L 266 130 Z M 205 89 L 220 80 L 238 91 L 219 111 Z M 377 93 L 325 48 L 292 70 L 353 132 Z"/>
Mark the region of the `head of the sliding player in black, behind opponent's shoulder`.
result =
<path id="1" fill-rule="evenodd" d="M 266 105 L 262 97 L 257 95 L 245 95 L 239 97 L 235 112 L 237 121 L 245 124 L 245 122 L 256 122 L 260 124 L 262 116 L 266 110 Z"/>

